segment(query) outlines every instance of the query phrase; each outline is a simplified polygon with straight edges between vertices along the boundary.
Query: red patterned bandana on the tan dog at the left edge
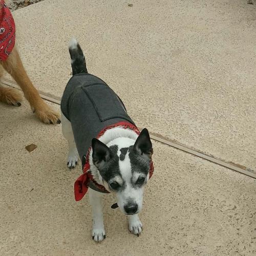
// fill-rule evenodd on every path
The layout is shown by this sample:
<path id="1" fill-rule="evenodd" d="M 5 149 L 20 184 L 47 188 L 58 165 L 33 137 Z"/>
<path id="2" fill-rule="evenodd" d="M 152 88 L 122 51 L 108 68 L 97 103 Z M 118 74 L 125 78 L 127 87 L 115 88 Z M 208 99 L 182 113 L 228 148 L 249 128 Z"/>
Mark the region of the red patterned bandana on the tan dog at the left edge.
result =
<path id="1" fill-rule="evenodd" d="M 0 0 L 0 60 L 6 60 L 15 45 L 15 24 L 11 11 Z"/>

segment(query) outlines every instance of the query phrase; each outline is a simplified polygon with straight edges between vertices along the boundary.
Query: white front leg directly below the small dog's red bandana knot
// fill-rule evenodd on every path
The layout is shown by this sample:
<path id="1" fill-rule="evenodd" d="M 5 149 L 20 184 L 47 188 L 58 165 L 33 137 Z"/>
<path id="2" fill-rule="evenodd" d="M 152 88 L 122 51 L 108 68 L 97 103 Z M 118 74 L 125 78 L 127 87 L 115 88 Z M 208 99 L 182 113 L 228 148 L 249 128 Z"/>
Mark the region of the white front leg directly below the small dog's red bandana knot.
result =
<path id="1" fill-rule="evenodd" d="M 93 210 L 93 230 L 92 237 L 96 242 L 106 238 L 102 212 L 102 193 L 89 188 L 90 203 Z"/>

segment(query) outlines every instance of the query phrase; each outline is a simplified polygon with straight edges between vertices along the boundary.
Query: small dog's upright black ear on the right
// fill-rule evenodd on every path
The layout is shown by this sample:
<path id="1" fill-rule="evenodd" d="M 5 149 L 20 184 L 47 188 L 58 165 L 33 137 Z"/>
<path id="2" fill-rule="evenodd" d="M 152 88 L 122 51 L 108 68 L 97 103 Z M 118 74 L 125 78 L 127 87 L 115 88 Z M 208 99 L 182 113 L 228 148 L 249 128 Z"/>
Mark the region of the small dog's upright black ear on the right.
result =
<path id="1" fill-rule="evenodd" d="M 145 154 L 149 158 L 152 157 L 152 154 L 153 154 L 152 143 L 150 140 L 150 134 L 148 133 L 146 128 L 144 128 L 141 131 L 139 137 L 137 138 L 134 144 L 134 149 L 141 155 Z"/>

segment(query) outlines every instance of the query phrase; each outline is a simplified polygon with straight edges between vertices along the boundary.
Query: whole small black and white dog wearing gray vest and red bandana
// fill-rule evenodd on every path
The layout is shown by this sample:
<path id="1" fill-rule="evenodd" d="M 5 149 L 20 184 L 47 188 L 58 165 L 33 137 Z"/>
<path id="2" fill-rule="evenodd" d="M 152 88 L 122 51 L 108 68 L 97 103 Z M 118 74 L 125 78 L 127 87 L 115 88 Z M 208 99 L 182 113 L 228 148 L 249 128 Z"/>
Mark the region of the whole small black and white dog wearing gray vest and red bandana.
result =
<path id="1" fill-rule="evenodd" d="M 73 76 L 61 99 L 61 114 L 63 136 L 69 143 L 68 167 L 75 167 L 78 156 L 82 161 L 75 199 L 89 189 L 96 242 L 105 238 L 102 193 L 115 195 L 116 207 L 128 216 L 130 231 L 139 236 L 143 187 L 154 169 L 150 136 L 146 129 L 138 131 L 114 91 L 88 73 L 76 39 L 70 41 L 69 52 Z"/>

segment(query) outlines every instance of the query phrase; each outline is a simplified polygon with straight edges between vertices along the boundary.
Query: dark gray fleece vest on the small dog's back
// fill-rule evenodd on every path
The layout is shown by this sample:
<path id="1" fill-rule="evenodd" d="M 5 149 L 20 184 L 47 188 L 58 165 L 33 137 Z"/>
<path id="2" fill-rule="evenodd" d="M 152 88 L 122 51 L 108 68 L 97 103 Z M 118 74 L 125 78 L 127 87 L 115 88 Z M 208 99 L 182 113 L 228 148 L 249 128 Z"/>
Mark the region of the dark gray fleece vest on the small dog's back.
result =
<path id="1" fill-rule="evenodd" d="M 88 73 L 71 77 L 61 99 L 61 111 L 71 122 L 81 160 L 92 139 L 105 127 L 122 121 L 134 124 L 108 84 Z"/>

